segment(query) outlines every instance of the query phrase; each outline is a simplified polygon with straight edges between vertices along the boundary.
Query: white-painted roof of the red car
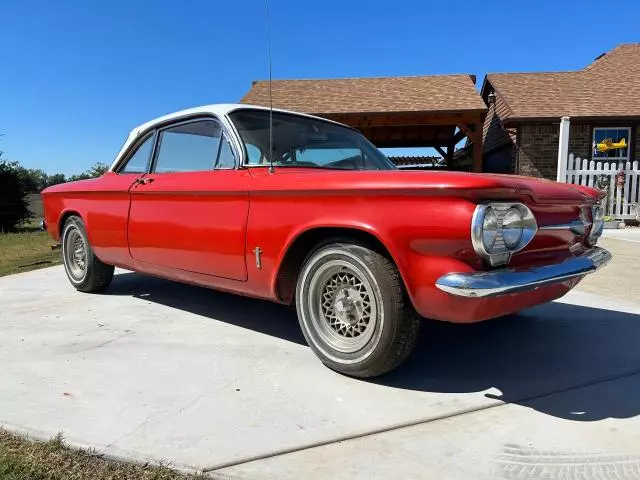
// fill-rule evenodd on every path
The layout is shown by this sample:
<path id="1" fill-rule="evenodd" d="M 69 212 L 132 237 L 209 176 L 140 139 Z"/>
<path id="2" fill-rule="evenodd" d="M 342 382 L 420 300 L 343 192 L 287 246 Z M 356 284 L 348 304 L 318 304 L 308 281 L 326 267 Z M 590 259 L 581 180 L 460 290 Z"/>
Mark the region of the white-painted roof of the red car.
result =
<path id="1" fill-rule="evenodd" d="M 224 121 L 227 115 L 233 112 L 234 110 L 246 109 L 246 108 L 250 108 L 252 110 L 269 111 L 269 107 L 263 107 L 259 105 L 249 105 L 246 103 L 217 103 L 212 105 L 203 105 L 201 107 L 187 108 L 186 110 L 180 110 L 178 112 L 169 113 L 167 115 L 154 118 L 153 120 L 149 120 L 148 122 L 138 125 L 137 127 L 135 127 L 133 130 L 129 132 L 129 136 L 127 137 L 127 140 L 124 142 L 124 145 L 120 149 L 120 152 L 118 152 L 118 155 L 116 156 L 115 160 L 111 164 L 111 167 L 109 168 L 109 170 L 113 171 L 115 169 L 115 167 L 118 165 L 120 161 L 120 157 L 126 152 L 129 146 L 131 146 L 131 144 L 136 141 L 136 139 L 139 137 L 140 134 L 154 127 L 155 125 L 164 123 L 169 120 L 179 119 L 182 117 L 189 117 L 189 116 L 198 115 L 198 114 L 213 114 L 218 118 L 220 118 L 222 121 Z M 341 123 L 334 122 L 326 118 L 316 117 L 314 115 L 307 115 L 306 113 L 293 112 L 291 110 L 283 110 L 280 108 L 274 108 L 273 111 L 280 112 L 280 113 L 292 113 L 294 115 L 300 115 L 300 116 L 309 117 L 309 118 L 316 118 L 319 120 L 324 120 L 325 122 L 331 122 L 337 125 L 343 125 Z M 343 126 L 346 126 L 346 125 L 343 125 Z M 348 127 L 348 128 L 351 128 L 351 127 Z"/>

